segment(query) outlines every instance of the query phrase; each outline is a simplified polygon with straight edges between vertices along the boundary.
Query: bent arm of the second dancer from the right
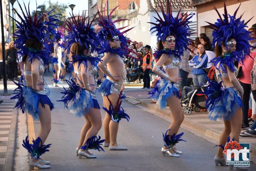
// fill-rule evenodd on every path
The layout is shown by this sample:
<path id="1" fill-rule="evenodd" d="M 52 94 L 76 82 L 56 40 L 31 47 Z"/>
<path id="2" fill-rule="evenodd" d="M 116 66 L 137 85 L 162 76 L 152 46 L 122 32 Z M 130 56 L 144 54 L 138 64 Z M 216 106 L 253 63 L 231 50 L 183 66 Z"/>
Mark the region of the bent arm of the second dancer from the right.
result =
<path id="1" fill-rule="evenodd" d="M 168 74 L 164 73 L 161 70 L 161 67 L 163 66 L 163 64 L 167 61 L 168 59 L 168 55 L 163 54 L 161 56 L 161 58 L 157 61 L 157 63 L 155 64 L 155 66 L 153 67 L 152 71 L 155 72 L 157 75 L 161 76 L 162 78 L 165 78 L 166 80 L 169 80 L 171 82 L 177 82 L 182 80 L 181 78 L 171 78 Z"/>

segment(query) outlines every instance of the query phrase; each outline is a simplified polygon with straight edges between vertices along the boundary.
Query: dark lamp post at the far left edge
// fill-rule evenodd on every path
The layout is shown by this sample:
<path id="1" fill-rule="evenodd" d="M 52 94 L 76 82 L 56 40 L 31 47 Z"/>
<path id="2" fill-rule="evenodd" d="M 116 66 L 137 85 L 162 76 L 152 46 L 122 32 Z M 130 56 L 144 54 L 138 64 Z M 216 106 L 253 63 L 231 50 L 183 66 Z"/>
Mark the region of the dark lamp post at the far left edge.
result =
<path id="1" fill-rule="evenodd" d="M 7 91 L 7 78 L 6 78 L 6 55 L 5 55 L 5 43 L 4 43 L 4 32 L 3 32 L 3 4 L 0 0 L 0 18 L 1 18 L 1 33 L 2 33 L 2 55 L 3 55 L 3 94 L 8 95 Z"/>

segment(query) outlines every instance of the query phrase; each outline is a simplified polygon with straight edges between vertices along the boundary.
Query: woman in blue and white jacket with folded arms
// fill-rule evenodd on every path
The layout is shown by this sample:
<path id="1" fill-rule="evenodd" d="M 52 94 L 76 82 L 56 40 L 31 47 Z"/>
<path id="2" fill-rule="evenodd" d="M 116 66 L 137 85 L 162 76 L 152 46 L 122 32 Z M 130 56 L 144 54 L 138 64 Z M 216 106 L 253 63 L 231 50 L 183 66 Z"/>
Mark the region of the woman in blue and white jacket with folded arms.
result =
<path id="1" fill-rule="evenodd" d="M 205 54 L 204 45 L 198 45 L 198 55 L 195 55 L 191 61 L 189 61 L 189 66 L 193 67 L 193 84 L 194 86 L 200 86 L 202 83 L 207 82 L 207 75 L 205 74 L 203 68 L 207 67 L 208 56 Z"/>

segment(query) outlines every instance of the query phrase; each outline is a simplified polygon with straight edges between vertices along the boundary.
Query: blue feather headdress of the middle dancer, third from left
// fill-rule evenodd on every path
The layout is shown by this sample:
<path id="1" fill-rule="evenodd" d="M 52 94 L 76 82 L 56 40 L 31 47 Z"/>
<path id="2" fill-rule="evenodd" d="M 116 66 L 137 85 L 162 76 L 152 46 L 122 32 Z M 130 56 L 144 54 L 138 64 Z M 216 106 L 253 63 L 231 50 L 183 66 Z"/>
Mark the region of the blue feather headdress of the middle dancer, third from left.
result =
<path id="1" fill-rule="evenodd" d="M 124 34 L 128 31 L 130 31 L 131 29 L 133 29 L 134 27 L 130 28 L 130 29 L 126 29 L 125 31 L 120 32 L 120 30 L 127 28 L 128 26 L 122 27 L 117 29 L 115 26 L 115 23 L 118 23 L 119 21 L 123 21 L 123 20 L 127 20 L 127 19 L 118 19 L 115 21 L 111 20 L 111 15 L 113 14 L 113 12 L 116 10 L 118 6 L 116 6 L 108 15 L 108 19 L 106 17 L 106 15 L 101 14 L 101 12 L 99 12 L 99 8 L 98 8 L 98 14 L 99 17 L 97 18 L 97 20 L 99 21 L 99 26 L 102 26 L 102 29 L 97 33 L 97 43 L 98 43 L 98 48 L 96 49 L 98 54 L 101 53 L 115 53 L 117 55 L 119 55 L 119 57 L 123 58 L 124 56 L 129 56 L 131 58 L 134 58 L 133 56 L 131 56 L 129 53 L 132 52 L 134 54 L 137 54 L 136 52 L 134 52 L 132 49 L 130 49 L 127 45 L 128 42 L 131 42 L 127 37 L 124 36 Z M 119 41 L 121 42 L 121 46 L 117 49 L 113 49 L 111 48 L 111 46 L 109 45 L 109 41 L 108 40 L 108 36 L 111 35 L 111 37 L 115 37 L 118 36 Z M 136 58 L 137 59 L 137 58 Z"/>

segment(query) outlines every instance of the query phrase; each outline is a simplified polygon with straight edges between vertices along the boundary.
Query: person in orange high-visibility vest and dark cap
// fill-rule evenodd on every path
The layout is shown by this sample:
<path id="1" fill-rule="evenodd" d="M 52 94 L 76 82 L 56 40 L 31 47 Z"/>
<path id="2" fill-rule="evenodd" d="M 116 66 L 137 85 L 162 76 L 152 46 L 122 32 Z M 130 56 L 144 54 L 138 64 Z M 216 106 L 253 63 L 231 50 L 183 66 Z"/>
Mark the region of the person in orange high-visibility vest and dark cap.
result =
<path id="1" fill-rule="evenodd" d="M 144 72 L 144 75 L 143 75 L 143 88 L 150 88 L 150 76 L 149 76 L 149 72 L 151 70 L 151 62 L 152 62 L 152 54 L 150 53 L 150 49 L 151 49 L 151 46 L 149 45 L 146 45 L 144 47 L 144 50 L 145 50 L 145 56 L 143 58 L 143 72 Z"/>

